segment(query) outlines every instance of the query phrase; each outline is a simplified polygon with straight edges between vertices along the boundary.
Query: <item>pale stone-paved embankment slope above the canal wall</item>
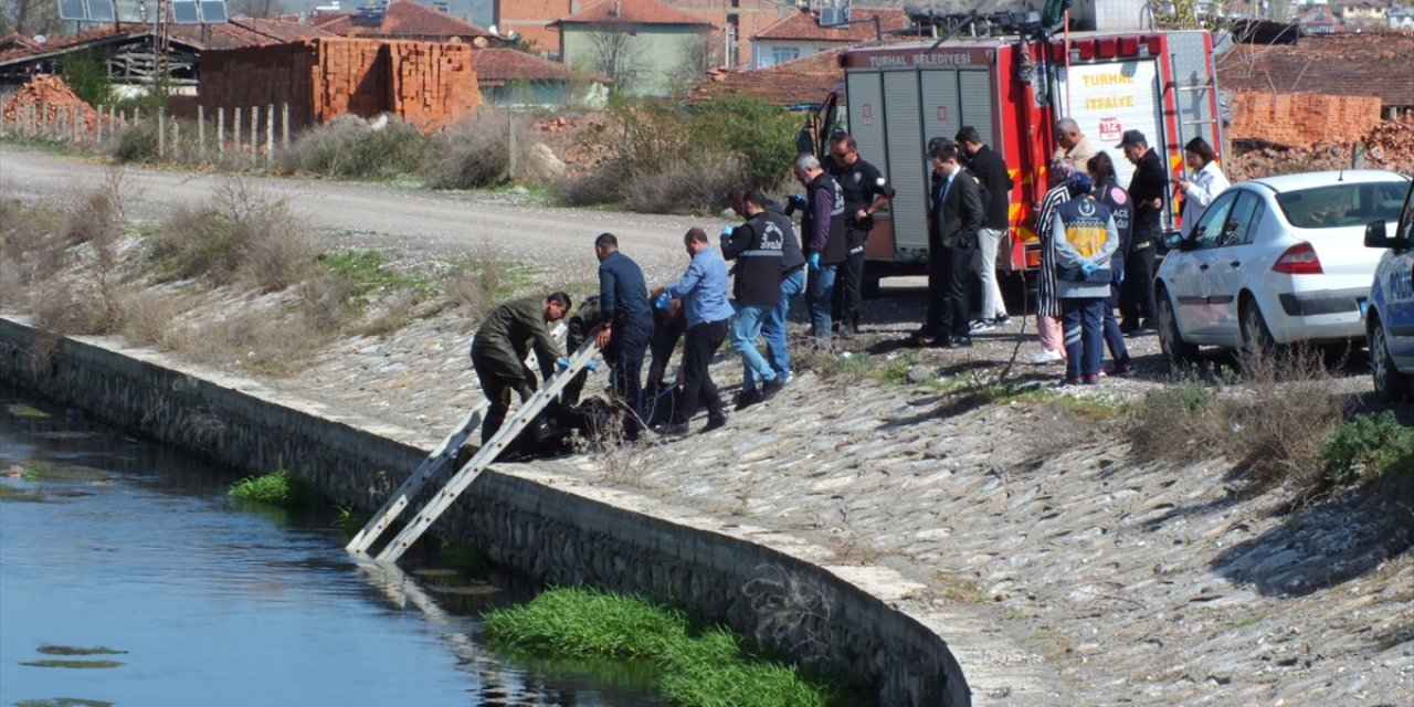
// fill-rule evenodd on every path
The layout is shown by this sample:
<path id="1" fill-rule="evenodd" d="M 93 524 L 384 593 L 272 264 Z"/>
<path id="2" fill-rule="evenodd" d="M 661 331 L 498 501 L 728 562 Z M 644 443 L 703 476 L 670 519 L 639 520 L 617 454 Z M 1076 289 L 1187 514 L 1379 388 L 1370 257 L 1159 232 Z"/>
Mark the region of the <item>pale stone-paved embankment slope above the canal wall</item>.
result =
<path id="1" fill-rule="evenodd" d="M 892 324 L 851 345 L 904 354 L 882 352 L 913 308 L 880 311 Z M 906 604 L 942 617 L 977 704 L 1407 704 L 1414 509 L 1352 495 L 1280 515 L 1223 460 L 1135 465 L 1113 424 L 928 385 L 994 375 L 1029 337 L 1014 318 L 971 351 L 926 351 L 911 369 L 923 385 L 802 372 L 721 430 L 536 467 L 899 570 L 928 587 Z M 1137 378 L 1077 395 L 1114 404 L 1164 385 L 1157 339 L 1131 348 Z M 728 396 L 740 382 L 725 349 L 714 376 Z M 438 320 L 345 341 L 281 385 L 428 438 L 479 396 L 464 327 Z"/>

